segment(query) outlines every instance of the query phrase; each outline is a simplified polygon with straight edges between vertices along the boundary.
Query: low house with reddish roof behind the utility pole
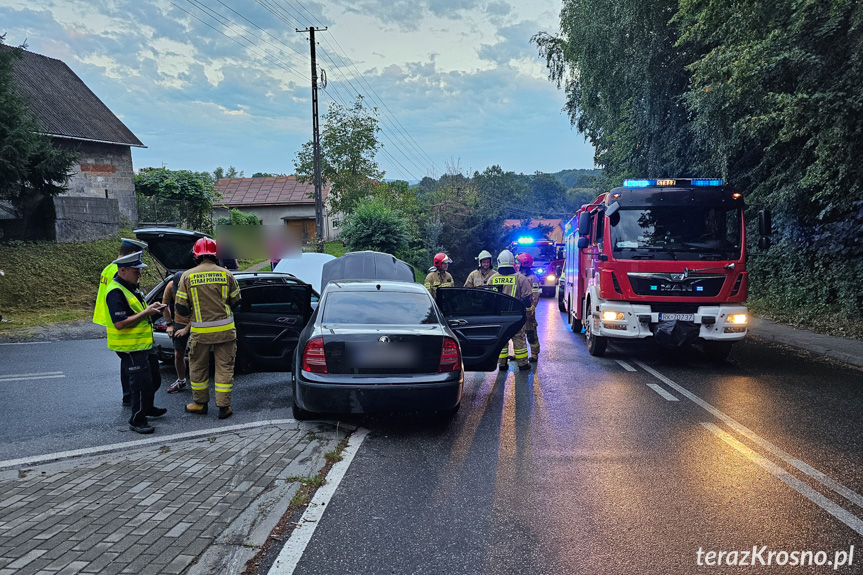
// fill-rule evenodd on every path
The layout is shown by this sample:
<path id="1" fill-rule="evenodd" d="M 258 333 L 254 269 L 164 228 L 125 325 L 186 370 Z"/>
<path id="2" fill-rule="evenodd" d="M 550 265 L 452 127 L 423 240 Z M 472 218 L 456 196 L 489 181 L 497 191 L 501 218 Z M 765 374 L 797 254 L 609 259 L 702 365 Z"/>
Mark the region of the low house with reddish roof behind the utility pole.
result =
<path id="1" fill-rule="evenodd" d="M 315 186 L 302 183 L 296 176 L 275 178 L 222 178 L 216 183 L 221 199 L 215 203 L 213 218 L 229 214 L 237 208 L 258 216 L 264 225 L 284 225 L 296 235 L 309 241 L 315 238 Z M 324 206 L 329 185 L 322 190 Z M 324 208 L 324 236 L 338 237 L 339 219 L 327 214 Z"/>

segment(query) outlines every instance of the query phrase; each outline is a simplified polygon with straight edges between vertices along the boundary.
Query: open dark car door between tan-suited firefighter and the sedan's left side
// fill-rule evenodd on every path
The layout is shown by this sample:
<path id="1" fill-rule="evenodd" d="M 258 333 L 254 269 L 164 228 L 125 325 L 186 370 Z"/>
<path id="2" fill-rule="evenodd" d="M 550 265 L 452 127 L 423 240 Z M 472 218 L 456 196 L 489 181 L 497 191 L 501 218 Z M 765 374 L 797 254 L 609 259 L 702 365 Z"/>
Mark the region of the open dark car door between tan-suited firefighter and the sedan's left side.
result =
<path id="1" fill-rule="evenodd" d="M 249 282 L 242 296 L 234 309 L 239 361 L 255 370 L 290 371 L 300 332 L 312 315 L 312 286 Z"/>

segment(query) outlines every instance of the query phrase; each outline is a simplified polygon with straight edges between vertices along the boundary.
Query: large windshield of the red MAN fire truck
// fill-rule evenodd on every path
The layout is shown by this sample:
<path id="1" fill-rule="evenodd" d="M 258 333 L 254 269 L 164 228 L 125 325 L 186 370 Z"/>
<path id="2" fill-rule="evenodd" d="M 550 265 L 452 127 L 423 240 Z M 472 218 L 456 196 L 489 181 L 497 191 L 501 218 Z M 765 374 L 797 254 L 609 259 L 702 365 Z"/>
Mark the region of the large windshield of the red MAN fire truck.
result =
<path id="1" fill-rule="evenodd" d="M 609 217 L 619 259 L 737 259 L 741 214 L 737 206 L 622 208 Z"/>

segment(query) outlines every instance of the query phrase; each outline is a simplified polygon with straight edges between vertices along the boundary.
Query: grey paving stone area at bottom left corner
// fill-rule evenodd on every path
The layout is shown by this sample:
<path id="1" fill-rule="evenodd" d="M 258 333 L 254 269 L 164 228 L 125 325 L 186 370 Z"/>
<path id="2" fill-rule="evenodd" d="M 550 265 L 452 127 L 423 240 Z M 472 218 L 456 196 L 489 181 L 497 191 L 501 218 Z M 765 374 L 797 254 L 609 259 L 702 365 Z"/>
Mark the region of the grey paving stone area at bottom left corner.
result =
<path id="1" fill-rule="evenodd" d="M 273 423 L 0 471 L 0 575 L 239 573 L 347 435 Z M 0 462 L 2 463 L 2 462 Z"/>

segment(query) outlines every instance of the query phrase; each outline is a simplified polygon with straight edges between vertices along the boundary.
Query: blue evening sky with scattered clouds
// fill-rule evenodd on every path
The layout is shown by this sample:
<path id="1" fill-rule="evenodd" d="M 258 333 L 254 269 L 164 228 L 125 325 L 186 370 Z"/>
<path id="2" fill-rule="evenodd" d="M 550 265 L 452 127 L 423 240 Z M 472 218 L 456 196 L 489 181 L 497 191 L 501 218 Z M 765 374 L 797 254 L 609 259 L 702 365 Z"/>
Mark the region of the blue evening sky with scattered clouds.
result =
<path id="1" fill-rule="evenodd" d="M 6 43 L 63 60 L 147 146 L 136 168 L 292 173 L 308 34 L 331 102 L 379 111 L 387 178 L 593 167 L 530 37 L 560 0 L 0 0 Z"/>

